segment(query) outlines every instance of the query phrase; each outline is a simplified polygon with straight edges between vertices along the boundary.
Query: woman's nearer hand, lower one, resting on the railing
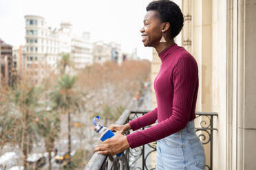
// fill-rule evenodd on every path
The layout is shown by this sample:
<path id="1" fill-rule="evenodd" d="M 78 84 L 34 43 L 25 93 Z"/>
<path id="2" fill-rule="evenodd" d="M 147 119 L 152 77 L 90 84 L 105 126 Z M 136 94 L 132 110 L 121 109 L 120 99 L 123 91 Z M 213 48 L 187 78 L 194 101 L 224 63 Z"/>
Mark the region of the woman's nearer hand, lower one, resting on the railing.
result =
<path id="1" fill-rule="evenodd" d="M 98 154 L 113 156 L 121 153 L 129 147 L 126 136 L 122 135 L 120 132 L 116 132 L 115 136 L 107 139 L 100 145 L 97 145 L 94 148 L 94 151 L 98 151 Z"/>

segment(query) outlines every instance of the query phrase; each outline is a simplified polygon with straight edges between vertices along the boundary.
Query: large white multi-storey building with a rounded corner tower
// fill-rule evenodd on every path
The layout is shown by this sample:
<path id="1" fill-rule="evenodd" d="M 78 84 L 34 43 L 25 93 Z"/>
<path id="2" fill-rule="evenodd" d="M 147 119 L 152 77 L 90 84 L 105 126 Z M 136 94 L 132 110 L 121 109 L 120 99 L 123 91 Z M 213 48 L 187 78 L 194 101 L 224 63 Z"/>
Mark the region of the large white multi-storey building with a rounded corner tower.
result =
<path id="1" fill-rule="evenodd" d="M 39 69 L 38 65 L 57 66 L 62 53 L 70 53 L 75 69 L 92 64 L 92 43 L 89 33 L 78 36 L 72 32 L 71 23 L 61 23 L 59 29 L 52 29 L 42 16 L 25 16 L 25 69 Z M 36 71 L 37 82 L 43 71 Z"/>

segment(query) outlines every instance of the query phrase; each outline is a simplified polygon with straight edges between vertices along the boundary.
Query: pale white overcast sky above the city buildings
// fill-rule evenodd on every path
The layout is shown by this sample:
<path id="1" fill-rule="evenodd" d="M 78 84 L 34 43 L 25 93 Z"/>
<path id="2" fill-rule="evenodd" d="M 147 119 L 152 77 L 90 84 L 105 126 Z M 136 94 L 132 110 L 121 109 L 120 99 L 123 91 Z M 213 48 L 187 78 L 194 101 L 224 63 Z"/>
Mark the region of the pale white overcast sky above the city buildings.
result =
<path id="1" fill-rule="evenodd" d="M 0 0 L 0 38 L 17 47 L 25 45 L 27 14 L 43 16 L 47 25 L 59 28 L 72 23 L 75 34 L 90 32 L 92 42 L 118 42 L 122 51 L 137 49 L 151 60 L 151 47 L 144 47 L 140 29 L 151 0 Z"/>

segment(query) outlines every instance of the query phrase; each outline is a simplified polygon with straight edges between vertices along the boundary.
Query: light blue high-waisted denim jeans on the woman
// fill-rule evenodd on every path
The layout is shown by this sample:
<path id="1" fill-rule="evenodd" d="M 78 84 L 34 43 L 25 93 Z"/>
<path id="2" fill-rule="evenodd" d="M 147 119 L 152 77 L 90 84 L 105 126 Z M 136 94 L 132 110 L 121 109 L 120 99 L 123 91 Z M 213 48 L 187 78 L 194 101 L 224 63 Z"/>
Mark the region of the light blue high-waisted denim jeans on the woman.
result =
<path id="1" fill-rule="evenodd" d="M 157 141 L 156 149 L 156 170 L 205 169 L 204 147 L 195 134 L 194 121 Z"/>

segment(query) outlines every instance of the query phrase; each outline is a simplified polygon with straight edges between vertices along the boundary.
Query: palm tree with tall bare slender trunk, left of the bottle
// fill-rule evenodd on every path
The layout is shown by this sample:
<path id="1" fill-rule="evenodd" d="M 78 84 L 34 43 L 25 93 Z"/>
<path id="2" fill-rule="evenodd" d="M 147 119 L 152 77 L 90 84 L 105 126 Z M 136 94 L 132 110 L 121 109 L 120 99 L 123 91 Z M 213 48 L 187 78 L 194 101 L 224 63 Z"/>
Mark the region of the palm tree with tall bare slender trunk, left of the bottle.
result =
<path id="1" fill-rule="evenodd" d="M 68 154 L 71 153 L 71 112 L 80 110 L 80 97 L 74 89 L 76 77 L 70 75 L 62 75 L 58 80 L 56 90 L 50 93 L 51 100 L 56 104 L 54 110 L 62 110 L 67 114 L 68 120 Z"/>

